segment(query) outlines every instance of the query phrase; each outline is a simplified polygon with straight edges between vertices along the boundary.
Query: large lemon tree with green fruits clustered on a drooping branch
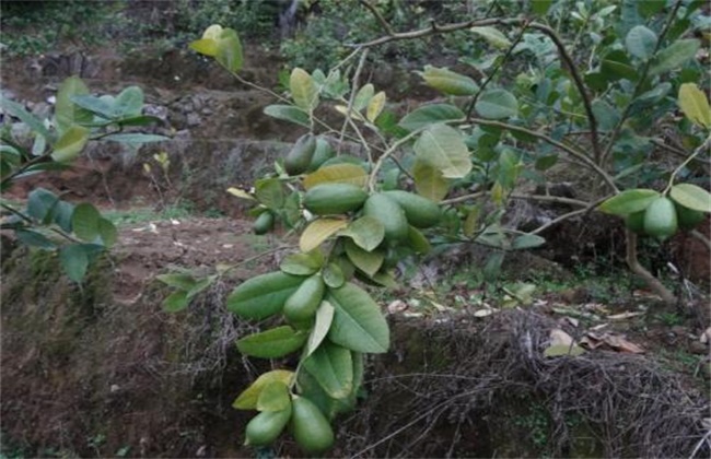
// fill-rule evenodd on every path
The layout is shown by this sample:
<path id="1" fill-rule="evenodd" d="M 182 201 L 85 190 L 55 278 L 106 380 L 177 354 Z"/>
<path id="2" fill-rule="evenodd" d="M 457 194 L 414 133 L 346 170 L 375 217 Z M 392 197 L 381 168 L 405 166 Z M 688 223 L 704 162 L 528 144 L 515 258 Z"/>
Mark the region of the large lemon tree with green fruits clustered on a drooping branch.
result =
<path id="1" fill-rule="evenodd" d="M 629 229 L 632 271 L 676 301 L 640 266 L 637 235 L 668 238 L 711 212 L 708 191 L 683 179 L 708 161 L 711 114 L 697 83 L 701 43 L 683 38 L 700 17 L 699 4 L 666 3 L 578 2 L 571 14 L 563 1 L 515 2 L 508 15 L 475 8 L 463 22 L 401 33 L 371 4 L 385 35 L 353 45 L 327 72 L 294 68 L 287 91 L 270 92 L 275 103 L 265 114 L 303 136 L 252 191 L 228 191 L 254 204 L 256 233 L 280 225 L 299 235 L 299 250 L 279 270 L 237 285 L 228 308 L 271 325 L 241 338 L 241 352 L 294 355 L 298 364 L 261 375 L 234 401 L 258 412 L 246 428 L 248 445 L 290 432 L 308 454 L 329 450 L 330 423 L 361 392 L 365 355 L 389 346 L 387 321 L 365 286 L 397 285 L 397 264 L 433 244 L 493 247 L 486 270 L 496 271 L 506 252 L 544 244 L 540 233 L 551 225 L 607 212 Z M 441 94 L 436 103 L 398 115 L 384 91 L 361 83 L 369 49 L 455 33 L 477 45 L 461 58 L 471 71 L 427 64 L 418 72 Z M 235 31 L 213 25 L 190 46 L 250 84 L 238 74 Z M 653 133 L 657 119 L 676 122 L 677 109 L 684 120 L 671 128 L 683 151 Z M 329 126 L 318 116 L 324 110 L 342 122 Z M 345 141 L 362 155 L 347 154 Z M 651 161 L 655 146 L 680 156 L 664 158 L 676 161 L 671 174 Z M 584 173 L 590 199 L 522 191 L 525 184 L 545 186 L 560 164 Z M 664 189 L 646 186 L 660 180 Z M 573 210 L 523 233 L 503 223 L 515 199 Z M 195 282 L 178 292 L 178 308 Z"/>

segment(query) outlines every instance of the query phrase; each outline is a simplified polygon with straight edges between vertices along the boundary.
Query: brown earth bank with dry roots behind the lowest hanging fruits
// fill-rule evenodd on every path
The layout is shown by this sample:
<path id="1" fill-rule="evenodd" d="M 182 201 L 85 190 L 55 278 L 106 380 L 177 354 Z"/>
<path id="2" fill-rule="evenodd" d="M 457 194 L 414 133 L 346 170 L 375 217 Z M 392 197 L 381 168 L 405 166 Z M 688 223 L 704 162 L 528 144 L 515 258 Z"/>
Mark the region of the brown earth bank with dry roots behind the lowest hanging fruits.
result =
<path id="1" fill-rule="evenodd" d="M 301 456 L 288 436 L 270 450 L 243 447 L 253 413 L 231 408 L 259 373 L 293 366 L 241 356 L 233 342 L 256 323 L 224 308 L 234 285 L 276 269 L 288 249 L 253 256 L 283 240 L 245 240 L 246 223 L 225 220 L 154 226 L 126 228 L 82 285 L 59 274 L 51 254 L 5 250 L 3 455 Z M 205 274 L 218 259 L 235 268 L 186 313 L 162 310 L 168 292 L 156 273 L 179 262 Z M 411 293 L 394 295 L 408 302 Z M 424 316 L 394 309 L 392 349 L 369 361 L 363 398 L 337 420 L 329 456 L 708 457 L 702 376 L 674 372 L 652 353 L 680 352 L 686 337 L 662 343 L 641 322 L 618 323 L 646 355 L 602 346 L 546 358 L 551 330 L 588 331 L 553 304 L 487 317 L 474 306 Z"/>

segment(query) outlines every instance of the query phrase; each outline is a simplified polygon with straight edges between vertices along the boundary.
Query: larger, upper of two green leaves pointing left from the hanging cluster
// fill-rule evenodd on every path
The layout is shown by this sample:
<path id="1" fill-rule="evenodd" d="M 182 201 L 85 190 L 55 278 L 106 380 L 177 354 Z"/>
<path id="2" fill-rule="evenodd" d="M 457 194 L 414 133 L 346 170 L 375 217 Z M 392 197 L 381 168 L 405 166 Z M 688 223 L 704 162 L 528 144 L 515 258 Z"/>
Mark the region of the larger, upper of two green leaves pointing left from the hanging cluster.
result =
<path id="1" fill-rule="evenodd" d="M 252 278 L 228 296 L 228 310 L 246 319 L 265 319 L 281 310 L 303 280 L 281 271 Z"/>

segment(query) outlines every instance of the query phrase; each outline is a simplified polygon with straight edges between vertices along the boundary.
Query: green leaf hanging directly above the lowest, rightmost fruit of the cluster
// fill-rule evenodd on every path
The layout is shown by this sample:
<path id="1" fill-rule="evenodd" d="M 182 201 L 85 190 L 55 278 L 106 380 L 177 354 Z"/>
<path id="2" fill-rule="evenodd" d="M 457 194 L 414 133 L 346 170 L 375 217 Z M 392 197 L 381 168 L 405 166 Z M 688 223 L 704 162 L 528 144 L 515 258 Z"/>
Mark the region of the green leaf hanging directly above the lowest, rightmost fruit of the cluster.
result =
<path id="1" fill-rule="evenodd" d="M 320 387 L 334 399 L 353 390 L 353 361 L 350 350 L 325 341 L 302 363 Z"/>

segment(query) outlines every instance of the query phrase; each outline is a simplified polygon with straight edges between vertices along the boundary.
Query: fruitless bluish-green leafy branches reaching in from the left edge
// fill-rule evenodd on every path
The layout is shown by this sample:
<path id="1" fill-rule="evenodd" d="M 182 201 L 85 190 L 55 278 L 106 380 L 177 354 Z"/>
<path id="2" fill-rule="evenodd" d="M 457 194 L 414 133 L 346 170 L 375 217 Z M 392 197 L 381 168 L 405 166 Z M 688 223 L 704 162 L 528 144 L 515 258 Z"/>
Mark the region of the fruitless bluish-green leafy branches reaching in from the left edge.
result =
<path id="1" fill-rule="evenodd" d="M 138 148 L 166 140 L 163 136 L 126 132 L 127 127 L 159 121 L 143 115 L 143 91 L 129 86 L 117 95 L 94 96 L 78 76 L 66 79 L 57 91 L 54 115 L 40 119 L 25 107 L 0 97 L 8 116 L 0 129 L 0 192 L 25 177 L 65 170 L 92 141 L 113 141 Z M 42 187 L 33 189 L 24 209 L 2 201 L 9 217 L 0 229 L 12 231 L 33 249 L 57 251 L 66 274 L 75 282 L 91 261 L 117 238 L 114 224 L 89 203 L 73 203 Z"/>

